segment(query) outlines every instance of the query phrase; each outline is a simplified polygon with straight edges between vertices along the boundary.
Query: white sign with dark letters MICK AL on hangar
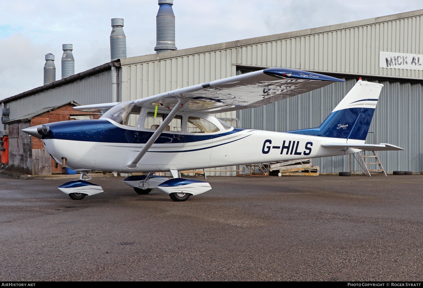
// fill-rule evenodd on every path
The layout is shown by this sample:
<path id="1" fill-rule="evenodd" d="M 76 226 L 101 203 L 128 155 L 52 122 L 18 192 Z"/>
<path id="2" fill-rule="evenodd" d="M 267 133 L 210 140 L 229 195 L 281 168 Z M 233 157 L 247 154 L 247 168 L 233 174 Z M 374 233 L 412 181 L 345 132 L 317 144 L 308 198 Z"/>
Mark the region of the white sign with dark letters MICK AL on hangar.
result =
<path id="1" fill-rule="evenodd" d="M 380 51 L 379 67 L 423 70 L 423 55 Z"/>

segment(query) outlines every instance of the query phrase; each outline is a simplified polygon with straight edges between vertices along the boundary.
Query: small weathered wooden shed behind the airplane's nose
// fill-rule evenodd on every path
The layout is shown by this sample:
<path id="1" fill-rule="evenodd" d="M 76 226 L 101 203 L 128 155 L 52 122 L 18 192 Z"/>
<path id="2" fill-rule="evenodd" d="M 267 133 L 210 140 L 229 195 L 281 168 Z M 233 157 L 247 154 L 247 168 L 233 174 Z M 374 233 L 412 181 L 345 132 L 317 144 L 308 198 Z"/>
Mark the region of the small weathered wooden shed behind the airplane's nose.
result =
<path id="1" fill-rule="evenodd" d="M 34 113 L 12 119 L 9 125 L 9 171 L 29 175 L 51 175 L 66 173 L 62 166 L 55 168 L 55 160 L 44 149 L 43 142 L 27 133 L 24 128 L 67 120 L 98 119 L 96 112 L 73 109 L 80 104 L 70 101 L 59 106 L 46 107 Z"/>

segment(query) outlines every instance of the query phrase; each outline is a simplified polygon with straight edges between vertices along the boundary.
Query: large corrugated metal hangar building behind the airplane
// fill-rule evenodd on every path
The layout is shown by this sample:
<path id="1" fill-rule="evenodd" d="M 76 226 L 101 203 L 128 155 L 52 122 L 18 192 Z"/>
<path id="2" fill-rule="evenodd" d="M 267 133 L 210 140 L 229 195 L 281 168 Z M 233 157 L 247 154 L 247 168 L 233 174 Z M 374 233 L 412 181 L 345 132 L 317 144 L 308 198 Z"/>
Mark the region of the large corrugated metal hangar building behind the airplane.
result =
<path id="1" fill-rule="evenodd" d="M 159 5 L 172 2 L 159 0 Z M 112 51 L 112 62 L 65 75 L 58 81 L 1 100 L 2 106 L 10 111 L 4 121 L 9 120 L 11 125 L 17 118 L 24 119 L 25 115 L 71 101 L 81 105 L 129 101 L 264 68 L 294 68 L 335 76 L 346 82 L 336 82 L 263 107 L 218 114 L 218 117 L 238 118 L 242 128 L 280 132 L 317 127 L 362 77 L 385 85 L 371 124 L 373 133 L 369 133 L 366 143 L 391 143 L 405 149 L 379 152 L 388 172 L 423 170 L 420 143 L 423 135 L 420 117 L 423 112 L 423 10 L 182 50 L 176 50 L 174 45 L 166 46 L 163 44 L 166 41 L 160 42 L 159 17 L 174 17 L 172 15 L 160 14 L 159 10 L 155 49 L 158 53 L 125 58 L 125 44 L 124 56 L 122 52 L 117 58 Z M 112 19 L 113 23 L 111 45 L 113 39 L 123 45 L 123 19 Z M 63 48 L 71 51 L 69 44 L 65 45 Z M 52 58 L 48 55 L 47 62 Z M 25 135 L 19 131 L 22 139 L 29 137 Z M 26 142 L 9 143 L 9 151 L 22 150 L 11 148 L 22 143 Z M 30 172 L 22 165 L 19 157 L 9 155 L 10 170 Z M 350 160 L 349 156 L 320 158 L 313 165 L 319 165 L 322 173 L 337 173 L 349 171 Z M 353 162 L 352 170 L 358 170 L 356 166 L 358 164 Z M 234 172 L 210 174 L 229 176 Z"/>

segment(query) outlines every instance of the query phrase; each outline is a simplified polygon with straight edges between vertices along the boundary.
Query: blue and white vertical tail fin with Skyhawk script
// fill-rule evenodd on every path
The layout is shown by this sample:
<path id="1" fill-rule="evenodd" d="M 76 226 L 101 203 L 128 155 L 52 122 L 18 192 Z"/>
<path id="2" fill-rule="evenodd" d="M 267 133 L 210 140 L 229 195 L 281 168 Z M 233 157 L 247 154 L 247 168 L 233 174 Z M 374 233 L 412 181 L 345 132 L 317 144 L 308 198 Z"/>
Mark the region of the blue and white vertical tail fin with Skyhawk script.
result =
<path id="1" fill-rule="evenodd" d="M 365 141 L 382 87 L 358 80 L 319 127 L 287 133 Z"/>

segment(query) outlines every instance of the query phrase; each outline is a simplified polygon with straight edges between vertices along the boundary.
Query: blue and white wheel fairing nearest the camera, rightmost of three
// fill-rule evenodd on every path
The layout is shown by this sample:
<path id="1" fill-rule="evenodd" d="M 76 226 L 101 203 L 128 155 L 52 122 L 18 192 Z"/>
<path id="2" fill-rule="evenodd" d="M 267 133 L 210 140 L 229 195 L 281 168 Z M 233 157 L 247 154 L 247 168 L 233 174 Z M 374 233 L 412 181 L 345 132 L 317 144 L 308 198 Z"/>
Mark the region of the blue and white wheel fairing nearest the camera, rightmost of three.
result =
<path id="1" fill-rule="evenodd" d="M 207 182 L 195 179 L 174 178 L 157 185 L 165 193 L 188 193 L 192 196 L 202 194 L 211 189 Z"/>

